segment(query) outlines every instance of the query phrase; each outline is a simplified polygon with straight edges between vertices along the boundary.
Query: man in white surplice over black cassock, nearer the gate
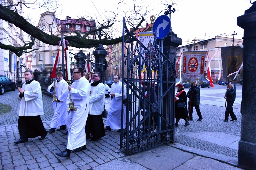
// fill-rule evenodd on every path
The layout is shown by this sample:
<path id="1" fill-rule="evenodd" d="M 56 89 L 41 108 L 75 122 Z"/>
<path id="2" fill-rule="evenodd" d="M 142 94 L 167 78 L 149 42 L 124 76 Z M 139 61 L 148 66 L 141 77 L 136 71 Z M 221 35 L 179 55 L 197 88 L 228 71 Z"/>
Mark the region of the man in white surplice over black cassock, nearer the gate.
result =
<path id="1" fill-rule="evenodd" d="M 91 94 L 90 94 L 90 109 L 85 126 L 86 137 L 93 136 L 90 141 L 95 141 L 103 136 L 106 136 L 102 112 L 105 105 L 105 85 L 100 81 L 101 74 L 93 73 L 91 79 Z"/>

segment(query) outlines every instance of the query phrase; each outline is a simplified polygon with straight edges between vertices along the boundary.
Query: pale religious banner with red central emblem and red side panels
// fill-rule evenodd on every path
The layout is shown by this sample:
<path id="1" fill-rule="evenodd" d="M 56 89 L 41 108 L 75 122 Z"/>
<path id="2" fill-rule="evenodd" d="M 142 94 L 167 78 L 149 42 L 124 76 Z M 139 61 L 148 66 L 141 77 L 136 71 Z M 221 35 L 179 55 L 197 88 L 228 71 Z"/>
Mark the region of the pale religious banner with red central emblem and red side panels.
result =
<path id="1" fill-rule="evenodd" d="M 203 83 L 206 54 L 206 51 L 183 51 L 183 83 Z"/>

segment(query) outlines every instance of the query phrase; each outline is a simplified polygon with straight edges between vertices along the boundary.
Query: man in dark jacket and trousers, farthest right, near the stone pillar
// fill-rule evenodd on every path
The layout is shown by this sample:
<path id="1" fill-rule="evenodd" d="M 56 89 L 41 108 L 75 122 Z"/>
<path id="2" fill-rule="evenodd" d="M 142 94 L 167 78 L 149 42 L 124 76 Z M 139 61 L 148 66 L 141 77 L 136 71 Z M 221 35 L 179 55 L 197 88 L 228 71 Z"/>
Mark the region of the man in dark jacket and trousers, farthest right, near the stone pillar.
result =
<path id="1" fill-rule="evenodd" d="M 231 121 L 237 120 L 237 117 L 233 111 L 233 104 L 234 104 L 234 101 L 236 100 L 236 90 L 233 88 L 232 83 L 228 84 L 228 88 L 224 98 L 227 100 L 227 107 L 225 111 L 225 119 L 223 121 L 224 122 L 228 121 L 229 114 L 231 116 Z"/>

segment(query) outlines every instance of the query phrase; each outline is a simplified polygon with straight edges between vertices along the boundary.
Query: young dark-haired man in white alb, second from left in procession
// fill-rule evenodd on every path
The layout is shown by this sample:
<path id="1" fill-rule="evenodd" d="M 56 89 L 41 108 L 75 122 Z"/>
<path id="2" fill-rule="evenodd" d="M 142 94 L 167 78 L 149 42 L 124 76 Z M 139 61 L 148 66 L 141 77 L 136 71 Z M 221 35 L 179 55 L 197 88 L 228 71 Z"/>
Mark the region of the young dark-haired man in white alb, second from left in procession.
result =
<path id="1" fill-rule="evenodd" d="M 67 97 L 68 97 L 68 83 L 63 79 L 63 72 L 58 71 L 56 73 L 57 81 L 49 85 L 48 92 L 54 93 L 56 91 L 57 101 L 53 101 L 53 118 L 50 124 L 50 128 L 47 132 L 53 133 L 57 127 L 57 131 L 66 129 L 67 123 Z"/>

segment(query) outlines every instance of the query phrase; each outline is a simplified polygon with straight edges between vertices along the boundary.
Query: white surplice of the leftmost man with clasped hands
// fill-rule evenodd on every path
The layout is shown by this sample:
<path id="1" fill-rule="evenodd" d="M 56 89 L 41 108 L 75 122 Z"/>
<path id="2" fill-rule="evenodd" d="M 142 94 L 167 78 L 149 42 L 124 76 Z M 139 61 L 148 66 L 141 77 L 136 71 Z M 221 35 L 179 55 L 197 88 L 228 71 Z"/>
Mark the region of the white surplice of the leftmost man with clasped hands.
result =
<path id="1" fill-rule="evenodd" d="M 24 83 L 22 89 L 25 91 L 23 98 L 18 97 L 18 100 L 20 100 L 19 116 L 43 115 L 42 91 L 39 82 L 33 80 L 30 84 Z"/>

